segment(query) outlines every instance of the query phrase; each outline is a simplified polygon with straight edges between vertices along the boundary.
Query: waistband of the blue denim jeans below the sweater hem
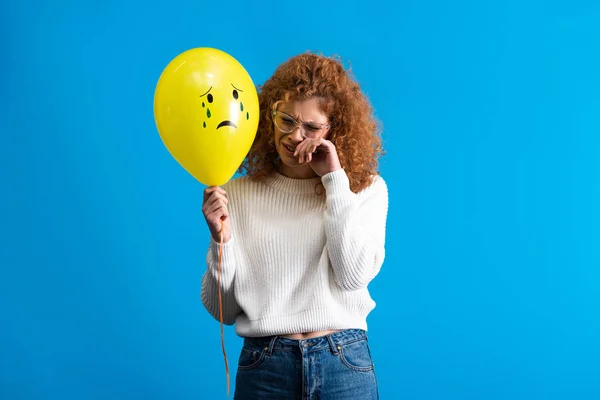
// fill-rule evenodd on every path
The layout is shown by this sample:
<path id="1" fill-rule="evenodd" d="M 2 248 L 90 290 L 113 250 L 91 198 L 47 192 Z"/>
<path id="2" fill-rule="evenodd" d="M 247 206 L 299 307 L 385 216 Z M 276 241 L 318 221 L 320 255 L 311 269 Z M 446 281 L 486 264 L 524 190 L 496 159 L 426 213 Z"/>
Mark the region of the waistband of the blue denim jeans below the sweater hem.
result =
<path id="1" fill-rule="evenodd" d="M 345 329 L 326 336 L 300 340 L 283 336 L 247 337 L 244 338 L 244 345 L 264 347 L 268 354 L 272 354 L 273 351 L 317 351 L 324 348 L 329 348 L 333 354 L 337 354 L 341 346 L 363 339 L 368 340 L 364 330 Z"/>

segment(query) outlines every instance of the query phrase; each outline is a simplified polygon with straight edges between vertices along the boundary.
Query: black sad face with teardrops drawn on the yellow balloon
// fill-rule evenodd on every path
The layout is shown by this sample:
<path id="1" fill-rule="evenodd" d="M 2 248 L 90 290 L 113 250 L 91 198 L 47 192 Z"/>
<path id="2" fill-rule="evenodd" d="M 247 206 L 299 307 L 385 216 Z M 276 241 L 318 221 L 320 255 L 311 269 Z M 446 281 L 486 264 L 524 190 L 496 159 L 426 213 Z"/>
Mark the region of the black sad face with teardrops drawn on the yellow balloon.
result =
<path id="1" fill-rule="evenodd" d="M 216 124 L 216 130 L 229 126 L 237 128 L 238 124 L 245 118 L 250 119 L 248 111 L 244 114 L 244 103 L 242 101 L 244 91 L 230 83 L 231 89 L 213 88 L 211 86 L 206 92 L 200 95 L 202 108 L 206 109 L 202 127 L 206 128 L 211 123 Z"/>

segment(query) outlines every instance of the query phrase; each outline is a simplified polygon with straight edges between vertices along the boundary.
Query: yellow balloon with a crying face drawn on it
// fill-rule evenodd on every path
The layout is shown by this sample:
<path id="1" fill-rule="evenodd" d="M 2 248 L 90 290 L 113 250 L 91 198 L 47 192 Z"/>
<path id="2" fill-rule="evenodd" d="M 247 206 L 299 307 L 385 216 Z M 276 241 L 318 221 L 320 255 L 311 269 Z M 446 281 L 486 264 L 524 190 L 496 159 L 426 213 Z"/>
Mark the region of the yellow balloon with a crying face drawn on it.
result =
<path id="1" fill-rule="evenodd" d="M 162 72 L 154 118 L 177 162 L 201 183 L 220 186 L 250 151 L 258 127 L 258 94 L 235 58 L 213 48 L 191 49 Z"/>

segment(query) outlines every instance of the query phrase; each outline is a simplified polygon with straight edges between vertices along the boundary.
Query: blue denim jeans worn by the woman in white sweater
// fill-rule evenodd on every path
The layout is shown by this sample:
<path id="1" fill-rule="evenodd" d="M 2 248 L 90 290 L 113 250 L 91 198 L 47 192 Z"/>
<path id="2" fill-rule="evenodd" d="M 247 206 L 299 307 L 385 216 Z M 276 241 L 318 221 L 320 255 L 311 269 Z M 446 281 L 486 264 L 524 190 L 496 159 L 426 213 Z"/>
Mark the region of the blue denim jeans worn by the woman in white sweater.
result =
<path id="1" fill-rule="evenodd" d="M 377 380 L 360 329 L 314 339 L 245 338 L 235 400 L 375 400 Z"/>

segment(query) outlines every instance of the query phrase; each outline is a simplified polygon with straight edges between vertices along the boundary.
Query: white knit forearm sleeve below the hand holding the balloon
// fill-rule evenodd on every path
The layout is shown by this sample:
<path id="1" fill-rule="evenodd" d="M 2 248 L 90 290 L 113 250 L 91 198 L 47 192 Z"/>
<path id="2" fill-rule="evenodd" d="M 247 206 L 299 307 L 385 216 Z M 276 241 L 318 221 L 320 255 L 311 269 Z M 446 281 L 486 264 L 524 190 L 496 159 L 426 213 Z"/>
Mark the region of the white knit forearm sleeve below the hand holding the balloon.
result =
<path id="1" fill-rule="evenodd" d="M 202 290 L 200 297 L 206 310 L 217 321 L 219 318 L 219 293 L 218 293 L 218 266 L 219 266 L 219 246 L 213 238 L 210 238 L 210 245 L 206 255 L 206 272 L 202 277 Z M 223 259 L 221 264 L 221 296 L 223 299 L 223 323 L 233 325 L 238 314 L 242 312 L 235 299 L 234 279 L 235 279 L 235 252 L 234 238 L 231 237 L 223 245 Z"/>

